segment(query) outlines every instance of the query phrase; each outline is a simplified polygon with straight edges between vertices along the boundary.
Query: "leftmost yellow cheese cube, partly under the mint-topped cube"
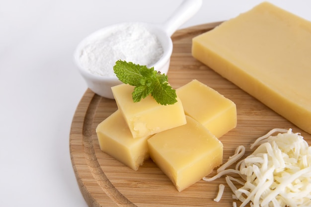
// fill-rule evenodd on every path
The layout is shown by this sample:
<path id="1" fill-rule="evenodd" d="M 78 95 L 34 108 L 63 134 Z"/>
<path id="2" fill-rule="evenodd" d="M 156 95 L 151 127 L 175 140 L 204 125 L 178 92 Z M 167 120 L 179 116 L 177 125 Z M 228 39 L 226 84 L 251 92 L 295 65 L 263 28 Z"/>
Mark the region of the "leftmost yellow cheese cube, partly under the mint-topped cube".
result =
<path id="1" fill-rule="evenodd" d="M 138 170 L 149 158 L 147 139 L 133 138 L 120 110 L 117 110 L 96 127 L 100 149 L 118 161 Z"/>

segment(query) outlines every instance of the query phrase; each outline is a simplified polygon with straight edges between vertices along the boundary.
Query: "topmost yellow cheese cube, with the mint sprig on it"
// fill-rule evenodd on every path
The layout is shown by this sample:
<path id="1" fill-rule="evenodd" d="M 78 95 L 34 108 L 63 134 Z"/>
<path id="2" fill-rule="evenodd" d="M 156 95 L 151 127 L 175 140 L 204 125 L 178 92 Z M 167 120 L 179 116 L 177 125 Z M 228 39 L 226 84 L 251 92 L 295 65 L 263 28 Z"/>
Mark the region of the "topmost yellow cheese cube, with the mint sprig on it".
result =
<path id="1" fill-rule="evenodd" d="M 133 102 L 134 86 L 120 84 L 111 89 L 133 138 L 146 137 L 186 124 L 179 98 L 171 105 L 160 105 L 151 95 L 140 102 Z"/>

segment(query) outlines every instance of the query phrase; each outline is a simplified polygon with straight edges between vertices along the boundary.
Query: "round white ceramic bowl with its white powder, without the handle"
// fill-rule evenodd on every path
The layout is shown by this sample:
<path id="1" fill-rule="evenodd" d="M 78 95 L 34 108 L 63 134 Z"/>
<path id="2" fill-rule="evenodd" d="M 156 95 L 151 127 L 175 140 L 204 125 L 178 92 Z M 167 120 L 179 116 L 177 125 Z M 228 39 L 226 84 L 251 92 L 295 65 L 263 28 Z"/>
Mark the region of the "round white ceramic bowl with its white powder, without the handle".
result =
<path id="1" fill-rule="evenodd" d="M 74 59 L 87 86 L 94 93 L 113 99 L 111 87 L 121 84 L 113 71 L 116 61 L 154 67 L 166 74 L 172 49 L 170 36 L 157 25 L 128 22 L 105 27 L 84 38 Z"/>

